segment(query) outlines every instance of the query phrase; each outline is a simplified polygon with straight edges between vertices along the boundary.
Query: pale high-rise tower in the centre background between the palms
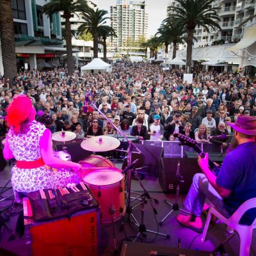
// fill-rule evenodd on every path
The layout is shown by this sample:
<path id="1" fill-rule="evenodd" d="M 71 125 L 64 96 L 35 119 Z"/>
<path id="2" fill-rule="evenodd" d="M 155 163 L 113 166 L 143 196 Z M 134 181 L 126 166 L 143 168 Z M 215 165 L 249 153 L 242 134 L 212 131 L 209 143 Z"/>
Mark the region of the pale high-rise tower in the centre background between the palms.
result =
<path id="1" fill-rule="evenodd" d="M 148 13 L 145 1 L 117 0 L 110 7 L 111 27 L 117 38 L 110 40 L 112 51 L 126 51 L 132 42 L 147 37 Z"/>

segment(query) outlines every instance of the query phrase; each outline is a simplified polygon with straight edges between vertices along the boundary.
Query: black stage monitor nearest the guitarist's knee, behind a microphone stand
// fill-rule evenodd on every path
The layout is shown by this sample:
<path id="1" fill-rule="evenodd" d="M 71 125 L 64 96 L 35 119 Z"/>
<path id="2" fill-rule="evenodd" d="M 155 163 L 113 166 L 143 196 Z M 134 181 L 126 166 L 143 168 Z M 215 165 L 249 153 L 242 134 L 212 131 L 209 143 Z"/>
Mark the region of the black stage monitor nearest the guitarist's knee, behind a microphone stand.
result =
<path id="1" fill-rule="evenodd" d="M 201 172 L 195 158 L 162 157 L 159 164 L 159 183 L 164 192 L 175 193 L 177 187 L 177 164 L 180 162 L 180 193 L 188 193 L 195 173 Z"/>

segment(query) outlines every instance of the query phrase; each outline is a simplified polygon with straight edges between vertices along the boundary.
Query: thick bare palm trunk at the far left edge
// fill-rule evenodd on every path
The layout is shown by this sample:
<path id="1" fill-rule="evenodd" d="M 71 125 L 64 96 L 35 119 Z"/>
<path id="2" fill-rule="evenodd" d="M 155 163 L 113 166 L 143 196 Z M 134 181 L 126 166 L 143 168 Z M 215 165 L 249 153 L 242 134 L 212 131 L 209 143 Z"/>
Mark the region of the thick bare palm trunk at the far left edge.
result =
<path id="1" fill-rule="evenodd" d="M 0 1 L 0 34 L 4 76 L 12 81 L 13 78 L 17 76 L 17 66 L 15 57 L 12 2 L 10 0 Z"/>

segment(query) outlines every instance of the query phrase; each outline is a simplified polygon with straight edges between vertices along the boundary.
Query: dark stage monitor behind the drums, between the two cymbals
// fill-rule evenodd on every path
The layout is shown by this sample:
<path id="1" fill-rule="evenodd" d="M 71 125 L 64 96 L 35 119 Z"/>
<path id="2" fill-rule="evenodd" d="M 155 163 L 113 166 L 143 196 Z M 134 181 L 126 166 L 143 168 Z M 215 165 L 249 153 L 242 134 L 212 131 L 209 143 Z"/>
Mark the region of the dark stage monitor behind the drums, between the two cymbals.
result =
<path id="1" fill-rule="evenodd" d="M 71 160 L 73 162 L 78 163 L 79 161 L 83 160 L 84 158 L 91 156 L 93 154 L 92 151 L 84 150 L 81 147 L 81 142 L 83 139 L 76 139 L 72 141 L 65 142 L 65 147 L 67 147 L 67 152 L 71 156 Z M 61 151 L 63 147 L 63 143 L 59 141 L 55 141 L 54 145 L 56 150 Z"/>

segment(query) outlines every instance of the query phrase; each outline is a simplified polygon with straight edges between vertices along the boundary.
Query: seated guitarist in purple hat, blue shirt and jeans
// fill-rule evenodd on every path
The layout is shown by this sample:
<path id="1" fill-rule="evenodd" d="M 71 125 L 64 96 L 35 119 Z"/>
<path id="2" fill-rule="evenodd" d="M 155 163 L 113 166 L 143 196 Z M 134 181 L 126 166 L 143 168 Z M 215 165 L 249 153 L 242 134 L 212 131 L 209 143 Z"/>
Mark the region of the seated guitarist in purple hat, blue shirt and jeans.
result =
<path id="1" fill-rule="evenodd" d="M 201 219 L 205 198 L 209 199 L 218 211 L 230 218 L 246 200 L 256 197 L 256 118 L 255 116 L 238 116 L 235 123 L 227 123 L 234 129 L 232 143 L 215 175 L 209 169 L 209 157 L 198 157 L 198 164 L 203 173 L 196 173 L 185 200 L 188 216 L 179 215 L 180 224 L 202 232 Z M 250 153 L 250 154 L 249 154 Z M 251 225 L 256 217 L 256 209 L 246 211 L 239 223 Z"/>

